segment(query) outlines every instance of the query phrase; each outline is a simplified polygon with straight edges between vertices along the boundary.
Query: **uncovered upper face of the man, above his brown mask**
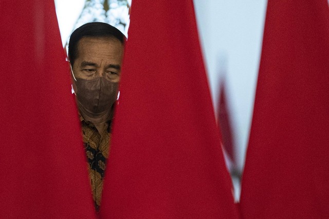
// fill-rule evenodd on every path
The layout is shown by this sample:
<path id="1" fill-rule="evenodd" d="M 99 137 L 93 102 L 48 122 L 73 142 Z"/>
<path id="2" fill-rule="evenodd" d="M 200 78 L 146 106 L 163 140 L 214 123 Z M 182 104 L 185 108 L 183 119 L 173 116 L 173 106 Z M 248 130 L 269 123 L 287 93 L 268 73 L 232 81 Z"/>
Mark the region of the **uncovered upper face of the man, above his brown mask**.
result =
<path id="1" fill-rule="evenodd" d="M 116 38 L 85 37 L 78 42 L 78 55 L 72 66 L 74 76 L 86 80 L 105 77 L 120 81 L 123 45 Z M 75 81 L 73 88 L 76 91 Z"/>

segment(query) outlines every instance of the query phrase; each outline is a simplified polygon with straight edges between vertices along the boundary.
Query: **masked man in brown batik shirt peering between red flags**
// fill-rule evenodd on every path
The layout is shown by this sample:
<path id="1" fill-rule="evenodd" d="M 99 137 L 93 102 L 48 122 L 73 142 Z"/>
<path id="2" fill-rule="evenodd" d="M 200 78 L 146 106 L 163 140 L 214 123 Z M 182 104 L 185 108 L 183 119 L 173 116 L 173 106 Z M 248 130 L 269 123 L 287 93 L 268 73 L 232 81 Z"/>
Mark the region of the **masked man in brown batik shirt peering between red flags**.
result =
<path id="1" fill-rule="evenodd" d="M 124 35 L 115 27 L 94 22 L 76 29 L 68 45 L 72 88 L 79 109 L 96 211 L 100 207 L 111 144 L 111 121 L 118 95 L 124 41 Z"/>

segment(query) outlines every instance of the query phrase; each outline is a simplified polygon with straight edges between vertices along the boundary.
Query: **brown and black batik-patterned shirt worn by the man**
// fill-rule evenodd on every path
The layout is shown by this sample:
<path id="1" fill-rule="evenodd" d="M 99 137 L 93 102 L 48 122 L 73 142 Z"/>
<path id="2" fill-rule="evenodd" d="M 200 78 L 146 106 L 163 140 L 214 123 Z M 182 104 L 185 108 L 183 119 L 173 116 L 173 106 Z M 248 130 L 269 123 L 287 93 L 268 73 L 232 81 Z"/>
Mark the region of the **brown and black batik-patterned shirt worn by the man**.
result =
<path id="1" fill-rule="evenodd" d="M 84 121 L 80 116 L 82 125 L 83 144 L 87 155 L 90 185 L 95 202 L 96 211 L 99 210 L 102 198 L 104 172 L 111 143 L 111 123 L 107 122 L 103 133 L 100 134 L 96 127 Z"/>

